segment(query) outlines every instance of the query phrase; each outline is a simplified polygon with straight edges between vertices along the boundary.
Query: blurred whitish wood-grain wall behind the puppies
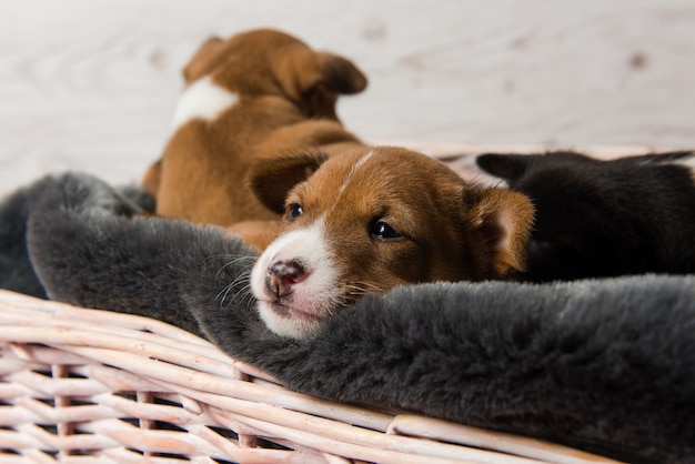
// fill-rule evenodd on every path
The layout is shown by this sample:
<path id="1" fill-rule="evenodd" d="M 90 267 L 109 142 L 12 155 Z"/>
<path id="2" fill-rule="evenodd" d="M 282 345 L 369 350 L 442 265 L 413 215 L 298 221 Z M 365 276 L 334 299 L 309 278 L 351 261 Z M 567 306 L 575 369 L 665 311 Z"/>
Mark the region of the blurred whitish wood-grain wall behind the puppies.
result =
<path id="1" fill-rule="evenodd" d="M 370 141 L 695 147 L 692 0 L 3 0 L 0 193 L 137 180 L 193 51 L 256 27 L 366 72 L 339 111 Z"/>

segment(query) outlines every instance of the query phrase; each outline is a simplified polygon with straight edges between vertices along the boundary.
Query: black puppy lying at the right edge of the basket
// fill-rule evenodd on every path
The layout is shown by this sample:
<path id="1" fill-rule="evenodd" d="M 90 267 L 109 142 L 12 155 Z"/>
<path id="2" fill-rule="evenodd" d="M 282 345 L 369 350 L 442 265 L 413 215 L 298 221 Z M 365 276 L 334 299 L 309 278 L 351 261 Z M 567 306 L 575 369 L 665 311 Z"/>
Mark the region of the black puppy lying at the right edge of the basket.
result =
<path id="1" fill-rule="evenodd" d="M 693 152 L 483 154 L 477 164 L 534 203 L 528 280 L 695 272 Z"/>

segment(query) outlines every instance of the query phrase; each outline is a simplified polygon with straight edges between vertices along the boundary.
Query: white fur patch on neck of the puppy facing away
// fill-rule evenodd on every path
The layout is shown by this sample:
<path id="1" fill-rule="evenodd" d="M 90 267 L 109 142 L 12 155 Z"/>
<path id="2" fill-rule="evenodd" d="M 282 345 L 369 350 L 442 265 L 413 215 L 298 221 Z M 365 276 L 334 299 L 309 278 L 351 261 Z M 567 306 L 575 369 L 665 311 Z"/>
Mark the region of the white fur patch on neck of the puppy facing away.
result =
<path id="1" fill-rule="evenodd" d="M 192 119 L 212 121 L 238 100 L 235 93 L 216 85 L 212 77 L 205 75 L 190 84 L 179 97 L 172 121 L 172 132 Z"/>

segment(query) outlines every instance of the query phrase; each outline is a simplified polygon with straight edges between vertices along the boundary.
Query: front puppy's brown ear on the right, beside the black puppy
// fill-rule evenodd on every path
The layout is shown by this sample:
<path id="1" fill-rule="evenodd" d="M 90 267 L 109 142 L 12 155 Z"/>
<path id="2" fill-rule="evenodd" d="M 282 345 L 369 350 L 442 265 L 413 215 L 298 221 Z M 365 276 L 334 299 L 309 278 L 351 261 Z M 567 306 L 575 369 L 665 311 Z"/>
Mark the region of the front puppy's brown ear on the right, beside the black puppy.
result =
<path id="1" fill-rule="evenodd" d="M 463 191 L 464 214 L 483 275 L 502 278 L 524 270 L 533 226 L 531 200 L 505 189 L 480 186 Z"/>

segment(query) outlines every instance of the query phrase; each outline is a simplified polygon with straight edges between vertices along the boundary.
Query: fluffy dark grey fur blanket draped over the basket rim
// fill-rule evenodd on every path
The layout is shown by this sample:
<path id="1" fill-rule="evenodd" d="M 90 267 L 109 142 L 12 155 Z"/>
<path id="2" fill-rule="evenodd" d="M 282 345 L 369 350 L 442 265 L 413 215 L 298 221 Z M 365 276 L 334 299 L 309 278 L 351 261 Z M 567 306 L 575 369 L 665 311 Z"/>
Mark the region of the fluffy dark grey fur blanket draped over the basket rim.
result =
<path id="1" fill-rule="evenodd" d="M 695 462 L 694 276 L 396 288 L 295 341 L 255 313 L 253 252 L 144 200 L 84 174 L 8 196 L 0 286 L 170 322 L 325 399 Z"/>

